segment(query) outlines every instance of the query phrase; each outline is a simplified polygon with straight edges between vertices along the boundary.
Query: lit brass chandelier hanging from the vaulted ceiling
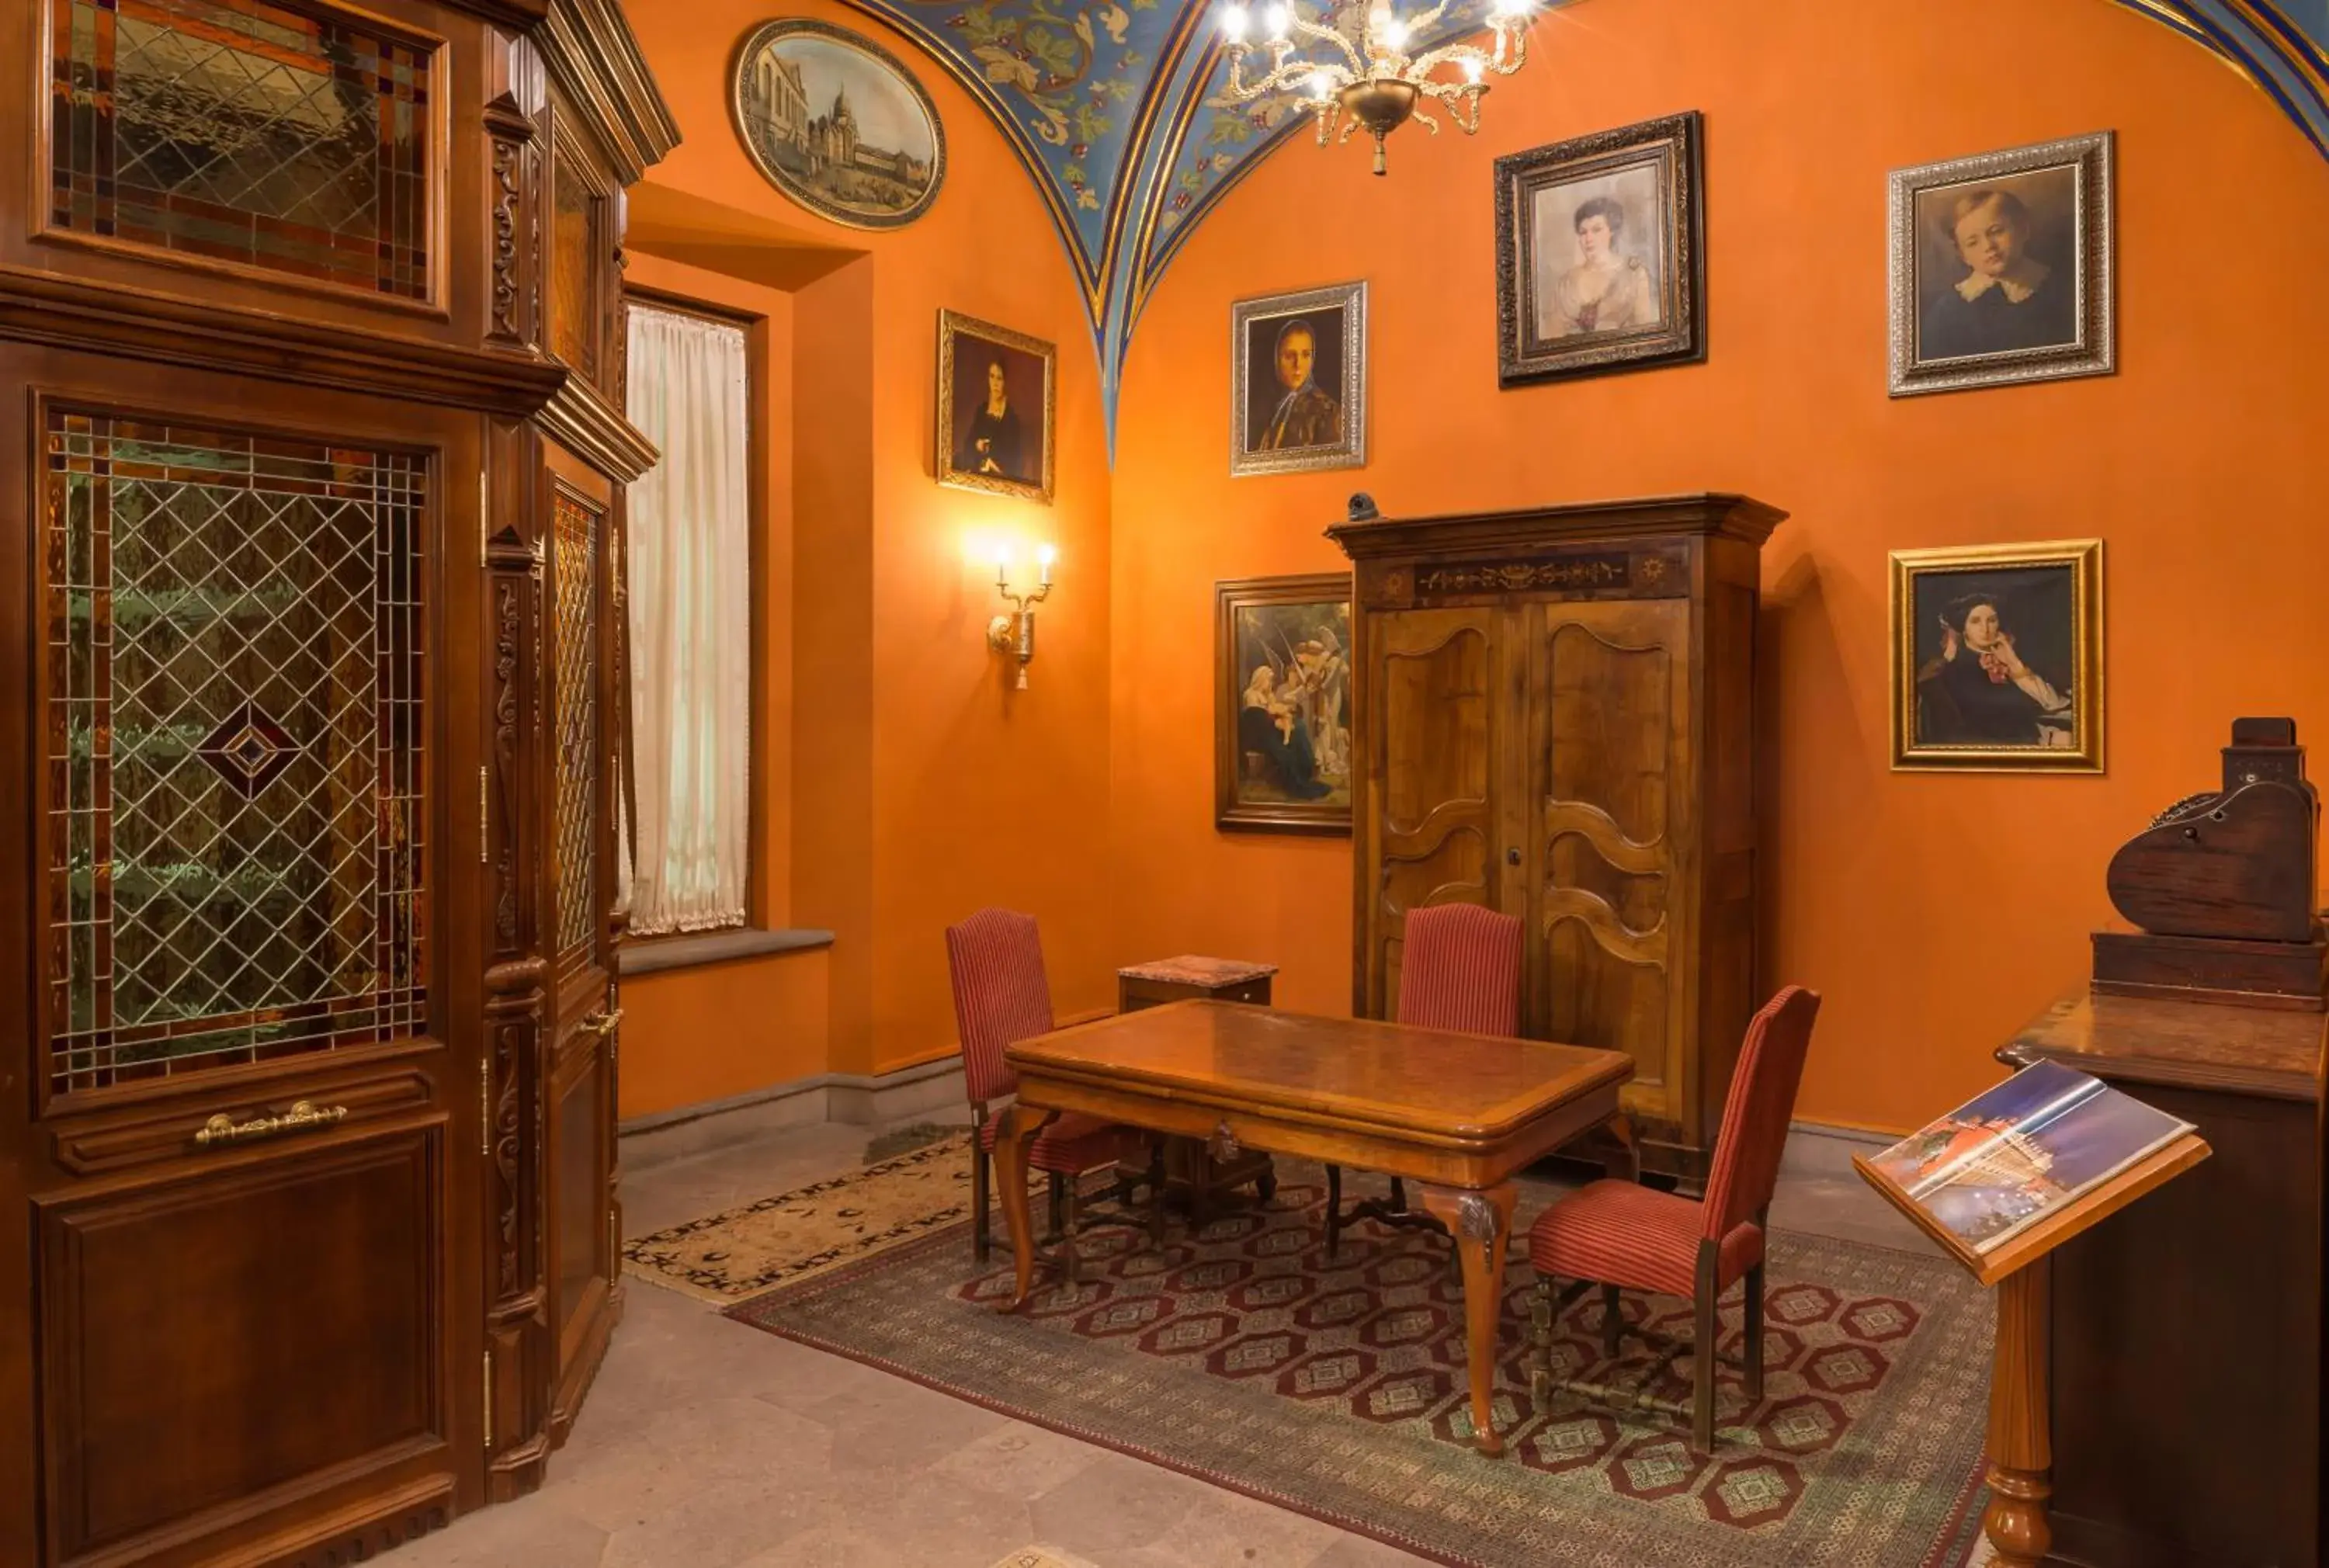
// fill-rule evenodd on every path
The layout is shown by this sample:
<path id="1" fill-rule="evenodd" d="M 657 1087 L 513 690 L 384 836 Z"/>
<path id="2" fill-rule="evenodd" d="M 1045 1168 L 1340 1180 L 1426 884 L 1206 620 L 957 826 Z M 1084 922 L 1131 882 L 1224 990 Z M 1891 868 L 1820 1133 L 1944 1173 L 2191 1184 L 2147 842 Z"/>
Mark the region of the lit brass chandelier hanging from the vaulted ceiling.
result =
<path id="1" fill-rule="evenodd" d="M 1367 7 L 1358 26 L 1348 16 Z M 1253 103 L 1274 93 L 1302 93 L 1318 116 L 1318 144 L 1342 123 L 1337 142 L 1348 142 L 1353 130 L 1374 137 L 1374 172 L 1383 172 L 1383 137 L 1409 119 L 1432 135 L 1439 121 L 1423 112 L 1425 98 L 1446 105 L 1449 119 L 1465 135 L 1479 130 L 1479 98 L 1488 91 L 1484 77 L 1491 72 L 1509 77 L 1528 63 L 1528 14 L 1532 0 L 1491 0 L 1488 28 L 1495 47 L 1442 44 L 1423 54 L 1409 54 L 1411 42 L 1421 42 L 1446 16 L 1451 0 L 1439 0 L 1428 12 L 1400 21 L 1388 0 L 1325 0 L 1318 19 L 1302 14 L 1297 0 L 1272 0 L 1262 9 L 1260 23 L 1269 49 L 1269 70 L 1258 79 L 1246 79 L 1246 56 L 1255 44 L 1246 40 L 1253 16 L 1244 5 L 1230 5 L 1220 16 L 1220 33 L 1230 44 L 1230 86 L 1223 105 Z M 1302 54 L 1309 44 L 1328 44 L 1321 58 Z M 1442 77 L 1446 70 L 1451 75 Z"/>

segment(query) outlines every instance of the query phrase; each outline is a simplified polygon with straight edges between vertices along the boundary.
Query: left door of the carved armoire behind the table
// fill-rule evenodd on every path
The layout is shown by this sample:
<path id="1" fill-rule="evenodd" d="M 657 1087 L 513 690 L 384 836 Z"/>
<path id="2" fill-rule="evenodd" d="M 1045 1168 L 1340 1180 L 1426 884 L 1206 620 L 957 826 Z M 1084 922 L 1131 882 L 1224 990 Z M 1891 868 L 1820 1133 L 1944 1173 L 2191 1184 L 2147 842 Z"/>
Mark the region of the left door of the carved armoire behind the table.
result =
<path id="1" fill-rule="evenodd" d="M 1367 643 L 1360 1011 L 1395 1018 L 1407 911 L 1500 904 L 1498 776 L 1519 671 L 1495 608 L 1376 615 Z"/>

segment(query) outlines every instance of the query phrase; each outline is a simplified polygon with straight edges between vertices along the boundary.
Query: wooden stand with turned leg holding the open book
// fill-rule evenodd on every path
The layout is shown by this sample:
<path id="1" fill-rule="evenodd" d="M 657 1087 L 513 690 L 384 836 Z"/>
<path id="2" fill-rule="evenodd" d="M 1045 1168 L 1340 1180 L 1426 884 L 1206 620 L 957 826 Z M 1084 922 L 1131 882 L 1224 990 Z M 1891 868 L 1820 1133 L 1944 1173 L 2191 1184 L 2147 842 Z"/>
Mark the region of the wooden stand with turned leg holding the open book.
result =
<path id="1" fill-rule="evenodd" d="M 2047 1391 L 2047 1298 L 2052 1284 L 2047 1256 L 2154 1186 L 2192 1170 L 2208 1153 L 2208 1142 L 2187 1132 L 1987 1253 L 1977 1253 L 1954 1237 L 1868 1156 L 1852 1156 L 1854 1170 L 1868 1186 L 1933 1237 L 1980 1284 L 1998 1288 L 1998 1347 L 1989 1368 L 1989 1512 L 1982 1517 L 1982 1531 L 2005 1568 L 2040 1568 L 2054 1542 L 2045 1510 L 2054 1491 L 2050 1479 L 2054 1438 Z"/>

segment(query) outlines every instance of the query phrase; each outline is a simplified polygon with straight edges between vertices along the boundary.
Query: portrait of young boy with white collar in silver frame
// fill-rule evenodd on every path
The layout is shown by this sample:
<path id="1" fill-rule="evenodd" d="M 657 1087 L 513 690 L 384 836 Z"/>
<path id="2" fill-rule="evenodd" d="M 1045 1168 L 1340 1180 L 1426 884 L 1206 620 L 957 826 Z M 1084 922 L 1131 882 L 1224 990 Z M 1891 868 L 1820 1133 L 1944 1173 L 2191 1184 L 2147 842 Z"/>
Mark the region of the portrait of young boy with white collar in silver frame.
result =
<path id="1" fill-rule="evenodd" d="M 1891 175 L 1891 394 L 2110 375 L 2112 135 Z"/>

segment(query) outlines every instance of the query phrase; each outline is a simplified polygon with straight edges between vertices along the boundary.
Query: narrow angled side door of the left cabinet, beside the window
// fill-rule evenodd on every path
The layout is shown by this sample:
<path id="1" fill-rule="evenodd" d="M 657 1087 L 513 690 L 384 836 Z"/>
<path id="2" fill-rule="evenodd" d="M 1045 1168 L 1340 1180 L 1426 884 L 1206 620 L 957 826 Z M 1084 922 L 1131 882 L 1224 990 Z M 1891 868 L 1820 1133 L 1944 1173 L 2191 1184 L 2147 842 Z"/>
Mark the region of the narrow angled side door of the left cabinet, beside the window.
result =
<path id="1" fill-rule="evenodd" d="M 615 1202 L 615 496 L 596 471 L 547 447 L 550 543 L 550 1058 L 545 1191 L 557 1344 L 550 1431 L 564 1440 L 620 1314 Z"/>

